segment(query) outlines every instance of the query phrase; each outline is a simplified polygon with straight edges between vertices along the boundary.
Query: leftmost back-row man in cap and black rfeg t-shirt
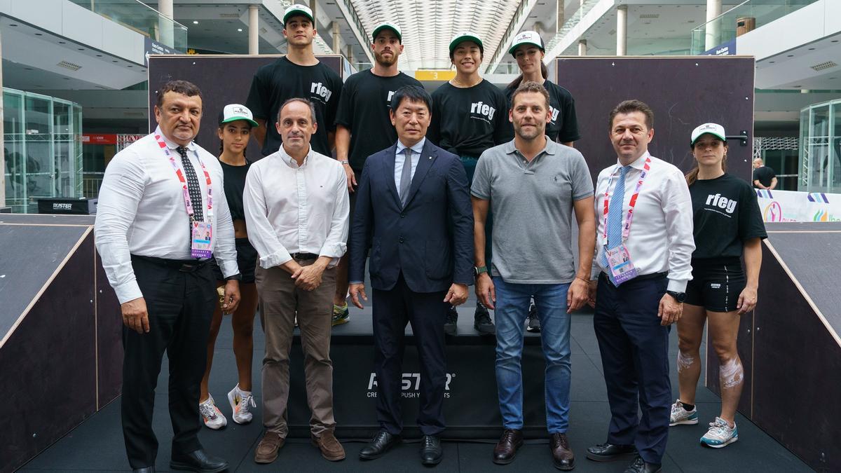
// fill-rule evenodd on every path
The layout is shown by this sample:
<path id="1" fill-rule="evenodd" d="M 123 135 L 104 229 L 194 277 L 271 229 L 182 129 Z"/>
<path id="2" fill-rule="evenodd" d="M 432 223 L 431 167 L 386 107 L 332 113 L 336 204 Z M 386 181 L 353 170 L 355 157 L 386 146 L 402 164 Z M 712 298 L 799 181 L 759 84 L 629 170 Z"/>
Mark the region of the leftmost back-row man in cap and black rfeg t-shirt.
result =
<path id="1" fill-rule="evenodd" d="M 313 54 L 315 24 L 309 8 L 287 8 L 283 14 L 283 36 L 288 42 L 286 56 L 257 69 L 251 81 L 246 106 L 260 124 L 254 129 L 254 137 L 263 156 L 278 151 L 283 140 L 274 124 L 280 107 L 289 98 L 306 98 L 315 105 L 318 124 L 310 145 L 316 152 L 330 156 L 341 77 Z"/>

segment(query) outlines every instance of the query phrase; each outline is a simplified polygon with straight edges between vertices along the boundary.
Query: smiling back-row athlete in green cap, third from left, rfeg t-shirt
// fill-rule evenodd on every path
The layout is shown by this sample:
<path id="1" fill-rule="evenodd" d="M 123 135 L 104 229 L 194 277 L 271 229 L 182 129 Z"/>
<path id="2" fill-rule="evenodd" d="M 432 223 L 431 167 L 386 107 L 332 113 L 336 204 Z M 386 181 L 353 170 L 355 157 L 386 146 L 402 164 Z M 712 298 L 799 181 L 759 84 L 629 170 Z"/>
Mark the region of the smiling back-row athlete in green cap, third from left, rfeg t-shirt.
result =
<path id="1" fill-rule="evenodd" d="M 508 121 L 508 100 L 494 84 L 479 76 L 484 46 L 479 35 L 459 33 L 450 41 L 450 61 L 456 77 L 432 93 L 432 120 L 426 137 L 462 158 L 468 182 L 473 182 L 476 162 L 489 147 L 514 139 Z M 486 248 L 490 248 L 490 219 L 485 222 Z M 485 260 L 490 265 L 490 255 Z M 483 335 L 494 335 L 488 309 L 478 300 L 473 327 Z M 458 312 L 451 307 L 444 322 L 447 335 L 456 334 Z"/>

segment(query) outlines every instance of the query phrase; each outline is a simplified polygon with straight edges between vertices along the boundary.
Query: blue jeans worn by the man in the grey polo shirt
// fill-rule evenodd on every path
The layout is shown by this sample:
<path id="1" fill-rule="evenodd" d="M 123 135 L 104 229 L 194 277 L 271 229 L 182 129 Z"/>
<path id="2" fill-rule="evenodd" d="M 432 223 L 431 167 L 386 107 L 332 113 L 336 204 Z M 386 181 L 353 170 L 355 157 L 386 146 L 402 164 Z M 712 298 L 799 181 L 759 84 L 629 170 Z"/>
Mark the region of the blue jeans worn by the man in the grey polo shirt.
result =
<path id="1" fill-rule="evenodd" d="M 566 433 L 569 427 L 569 284 L 509 284 L 495 277 L 496 390 L 504 428 L 523 427 L 521 358 L 523 329 L 534 296 L 546 359 L 546 427 Z"/>

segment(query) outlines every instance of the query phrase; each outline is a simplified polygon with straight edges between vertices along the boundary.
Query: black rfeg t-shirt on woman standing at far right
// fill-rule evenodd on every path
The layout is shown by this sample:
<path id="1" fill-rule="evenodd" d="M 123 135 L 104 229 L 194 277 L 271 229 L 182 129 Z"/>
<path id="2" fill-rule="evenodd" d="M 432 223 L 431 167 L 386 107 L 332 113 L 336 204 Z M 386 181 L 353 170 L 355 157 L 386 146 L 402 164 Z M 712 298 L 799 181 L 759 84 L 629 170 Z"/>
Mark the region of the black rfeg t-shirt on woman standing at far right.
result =
<path id="1" fill-rule="evenodd" d="M 745 240 L 767 238 L 756 191 L 725 173 L 689 186 L 695 223 L 692 258 L 738 258 Z"/>

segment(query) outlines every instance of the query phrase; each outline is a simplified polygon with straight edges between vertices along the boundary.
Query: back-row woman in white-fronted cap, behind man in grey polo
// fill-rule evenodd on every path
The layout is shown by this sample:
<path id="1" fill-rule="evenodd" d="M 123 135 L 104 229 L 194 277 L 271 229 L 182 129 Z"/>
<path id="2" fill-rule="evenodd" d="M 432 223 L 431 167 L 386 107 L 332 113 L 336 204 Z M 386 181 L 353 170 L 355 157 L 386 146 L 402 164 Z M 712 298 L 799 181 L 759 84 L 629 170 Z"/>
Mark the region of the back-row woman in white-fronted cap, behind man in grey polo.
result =
<path id="1" fill-rule="evenodd" d="M 520 76 L 505 88 L 505 98 L 510 106 L 511 95 L 522 82 L 542 84 L 549 93 L 549 109 L 552 120 L 546 124 L 546 135 L 553 141 L 566 146 L 573 146 L 580 140 L 578 118 L 575 115 L 575 101 L 569 90 L 547 79 L 548 71 L 543 64 L 545 49 L 543 40 L 535 31 L 523 31 L 514 37 L 509 52 L 520 67 Z"/>

